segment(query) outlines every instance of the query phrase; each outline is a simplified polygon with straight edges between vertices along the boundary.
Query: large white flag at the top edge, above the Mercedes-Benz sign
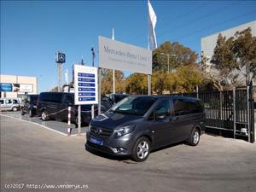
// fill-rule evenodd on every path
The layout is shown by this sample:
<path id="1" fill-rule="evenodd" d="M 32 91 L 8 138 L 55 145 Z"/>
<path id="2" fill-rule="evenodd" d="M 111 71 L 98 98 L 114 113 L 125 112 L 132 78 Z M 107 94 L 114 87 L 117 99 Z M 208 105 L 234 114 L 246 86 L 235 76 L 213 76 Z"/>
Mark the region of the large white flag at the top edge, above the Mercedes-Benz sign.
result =
<path id="1" fill-rule="evenodd" d="M 151 3 L 148 0 L 148 49 L 156 49 L 156 37 L 154 27 L 156 25 L 156 15 Z"/>

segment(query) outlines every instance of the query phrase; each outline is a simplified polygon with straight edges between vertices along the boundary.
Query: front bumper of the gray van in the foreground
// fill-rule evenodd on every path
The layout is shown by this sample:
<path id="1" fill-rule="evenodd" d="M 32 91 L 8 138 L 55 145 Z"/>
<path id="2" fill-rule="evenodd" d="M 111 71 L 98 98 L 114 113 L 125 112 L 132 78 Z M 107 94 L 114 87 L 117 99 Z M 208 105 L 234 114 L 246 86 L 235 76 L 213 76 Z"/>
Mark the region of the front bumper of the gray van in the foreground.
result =
<path id="1" fill-rule="evenodd" d="M 100 139 L 102 140 L 102 144 L 92 143 L 90 138 Z M 133 139 L 131 134 L 127 134 L 123 137 L 95 137 L 95 135 L 91 135 L 90 131 L 86 132 L 86 143 L 85 149 L 92 149 L 98 152 L 102 152 L 104 154 L 111 154 L 115 156 L 128 156 L 132 154 L 133 149 Z"/>

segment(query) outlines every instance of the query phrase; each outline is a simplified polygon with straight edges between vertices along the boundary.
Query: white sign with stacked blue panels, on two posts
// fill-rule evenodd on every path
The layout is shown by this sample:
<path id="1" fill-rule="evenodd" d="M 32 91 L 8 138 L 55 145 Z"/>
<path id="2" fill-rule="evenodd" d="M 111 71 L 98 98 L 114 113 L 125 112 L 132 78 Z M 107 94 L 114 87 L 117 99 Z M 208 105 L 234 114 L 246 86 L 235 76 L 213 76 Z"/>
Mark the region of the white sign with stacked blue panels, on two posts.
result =
<path id="1" fill-rule="evenodd" d="M 79 105 L 78 124 L 81 134 L 81 105 L 92 105 L 91 118 L 94 117 L 94 104 L 98 104 L 98 69 L 74 65 L 74 100 Z"/>

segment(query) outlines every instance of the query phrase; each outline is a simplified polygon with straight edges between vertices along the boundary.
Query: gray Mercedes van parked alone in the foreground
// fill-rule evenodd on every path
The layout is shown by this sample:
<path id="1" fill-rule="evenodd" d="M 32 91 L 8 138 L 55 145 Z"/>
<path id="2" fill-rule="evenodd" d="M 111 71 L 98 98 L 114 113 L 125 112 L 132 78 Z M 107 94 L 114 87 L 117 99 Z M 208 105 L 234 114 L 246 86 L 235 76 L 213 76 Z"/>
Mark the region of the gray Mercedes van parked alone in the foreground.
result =
<path id="1" fill-rule="evenodd" d="M 128 96 L 90 121 L 85 148 L 143 161 L 150 151 L 172 143 L 197 145 L 204 117 L 196 98 Z"/>

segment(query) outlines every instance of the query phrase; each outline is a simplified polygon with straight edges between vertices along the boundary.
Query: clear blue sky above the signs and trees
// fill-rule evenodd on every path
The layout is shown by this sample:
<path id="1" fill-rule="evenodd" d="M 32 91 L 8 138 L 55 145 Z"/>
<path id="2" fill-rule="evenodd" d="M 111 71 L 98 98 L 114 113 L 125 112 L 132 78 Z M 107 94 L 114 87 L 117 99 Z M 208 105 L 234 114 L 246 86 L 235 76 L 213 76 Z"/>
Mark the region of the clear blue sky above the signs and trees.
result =
<path id="1" fill-rule="evenodd" d="M 197 53 L 201 38 L 256 20 L 254 1 L 151 1 L 158 44 L 177 41 Z M 1 1 L 1 73 L 38 77 L 38 91 L 57 84 L 55 51 L 63 69 L 91 65 L 99 35 L 147 48 L 147 1 Z M 97 55 L 96 55 L 97 64 Z M 127 74 L 127 73 L 126 73 Z"/>

